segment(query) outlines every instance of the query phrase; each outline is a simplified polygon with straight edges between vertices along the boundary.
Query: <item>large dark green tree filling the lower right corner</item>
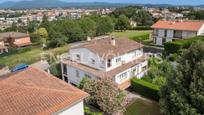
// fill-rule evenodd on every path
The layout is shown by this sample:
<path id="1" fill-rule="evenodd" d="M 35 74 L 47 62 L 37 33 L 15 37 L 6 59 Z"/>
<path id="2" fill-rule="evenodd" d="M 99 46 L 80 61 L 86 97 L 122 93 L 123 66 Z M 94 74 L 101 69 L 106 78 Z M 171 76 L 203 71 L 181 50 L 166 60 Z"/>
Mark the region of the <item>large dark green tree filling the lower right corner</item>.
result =
<path id="1" fill-rule="evenodd" d="M 161 88 L 160 105 L 164 115 L 204 114 L 204 42 L 185 51 L 177 70 Z"/>

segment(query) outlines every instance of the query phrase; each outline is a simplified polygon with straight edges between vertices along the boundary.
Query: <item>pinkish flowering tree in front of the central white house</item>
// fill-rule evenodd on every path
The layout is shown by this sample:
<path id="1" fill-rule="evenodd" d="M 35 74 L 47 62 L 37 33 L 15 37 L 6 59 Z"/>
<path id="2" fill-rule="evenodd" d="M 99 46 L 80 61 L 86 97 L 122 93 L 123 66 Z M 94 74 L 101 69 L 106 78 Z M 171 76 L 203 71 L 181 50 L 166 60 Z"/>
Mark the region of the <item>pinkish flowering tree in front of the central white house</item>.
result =
<path id="1" fill-rule="evenodd" d="M 122 102 L 125 94 L 117 89 L 109 79 L 102 80 L 82 80 L 86 81 L 83 90 L 90 94 L 87 101 L 90 104 L 99 106 L 104 112 L 109 114 L 122 110 Z"/>

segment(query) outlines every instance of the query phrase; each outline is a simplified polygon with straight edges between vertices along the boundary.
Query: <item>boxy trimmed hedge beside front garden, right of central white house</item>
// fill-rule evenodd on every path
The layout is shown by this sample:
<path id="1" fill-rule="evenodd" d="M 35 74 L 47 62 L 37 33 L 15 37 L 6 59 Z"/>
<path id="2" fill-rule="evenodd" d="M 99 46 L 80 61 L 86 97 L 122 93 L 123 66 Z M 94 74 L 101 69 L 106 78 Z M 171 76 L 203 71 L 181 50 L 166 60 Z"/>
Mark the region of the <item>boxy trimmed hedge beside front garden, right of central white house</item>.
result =
<path id="1" fill-rule="evenodd" d="M 135 92 L 150 99 L 159 100 L 159 86 L 137 78 L 131 80 L 131 86 Z"/>

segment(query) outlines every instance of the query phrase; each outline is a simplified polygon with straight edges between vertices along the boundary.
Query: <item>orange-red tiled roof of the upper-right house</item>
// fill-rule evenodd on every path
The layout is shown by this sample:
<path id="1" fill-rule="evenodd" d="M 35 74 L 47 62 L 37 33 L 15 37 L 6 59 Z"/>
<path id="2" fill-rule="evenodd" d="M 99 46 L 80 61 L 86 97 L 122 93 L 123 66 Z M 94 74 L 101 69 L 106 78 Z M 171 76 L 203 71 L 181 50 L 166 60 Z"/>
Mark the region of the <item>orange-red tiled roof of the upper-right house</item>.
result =
<path id="1" fill-rule="evenodd" d="M 186 31 L 198 31 L 204 21 L 193 21 L 193 20 L 185 20 L 185 21 L 172 21 L 172 20 L 159 20 L 156 22 L 152 28 L 156 29 L 173 29 L 173 30 L 186 30 Z"/>

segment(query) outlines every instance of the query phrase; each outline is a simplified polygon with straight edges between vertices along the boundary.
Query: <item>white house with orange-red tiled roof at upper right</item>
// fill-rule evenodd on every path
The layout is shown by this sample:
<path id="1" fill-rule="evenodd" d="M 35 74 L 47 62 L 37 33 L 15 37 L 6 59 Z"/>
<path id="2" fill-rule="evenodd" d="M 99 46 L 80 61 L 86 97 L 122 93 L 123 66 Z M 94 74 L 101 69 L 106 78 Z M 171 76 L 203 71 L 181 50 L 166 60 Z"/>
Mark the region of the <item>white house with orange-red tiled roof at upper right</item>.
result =
<path id="1" fill-rule="evenodd" d="M 204 21 L 159 20 L 152 28 L 154 29 L 152 37 L 156 45 L 163 45 L 164 42 L 204 35 Z"/>

